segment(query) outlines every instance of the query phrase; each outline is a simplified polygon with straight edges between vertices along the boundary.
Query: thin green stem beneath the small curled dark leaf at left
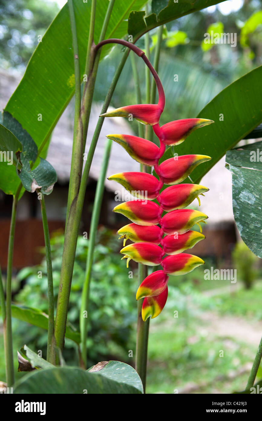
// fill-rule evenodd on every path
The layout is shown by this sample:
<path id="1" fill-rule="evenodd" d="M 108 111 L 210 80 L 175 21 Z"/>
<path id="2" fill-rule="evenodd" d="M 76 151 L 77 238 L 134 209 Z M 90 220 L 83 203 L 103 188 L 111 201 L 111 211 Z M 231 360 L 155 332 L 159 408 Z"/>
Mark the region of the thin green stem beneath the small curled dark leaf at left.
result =
<path id="1" fill-rule="evenodd" d="M 50 248 L 50 237 L 48 229 L 48 220 L 45 209 L 45 199 L 42 195 L 40 200 L 41 212 L 42 212 L 42 223 L 45 237 L 45 256 L 46 256 L 46 268 L 48 278 L 48 344 L 47 344 L 47 360 L 51 364 L 56 364 L 56 351 L 55 351 L 55 339 L 54 339 L 54 291 L 53 291 L 53 269 L 52 269 L 52 257 Z"/>

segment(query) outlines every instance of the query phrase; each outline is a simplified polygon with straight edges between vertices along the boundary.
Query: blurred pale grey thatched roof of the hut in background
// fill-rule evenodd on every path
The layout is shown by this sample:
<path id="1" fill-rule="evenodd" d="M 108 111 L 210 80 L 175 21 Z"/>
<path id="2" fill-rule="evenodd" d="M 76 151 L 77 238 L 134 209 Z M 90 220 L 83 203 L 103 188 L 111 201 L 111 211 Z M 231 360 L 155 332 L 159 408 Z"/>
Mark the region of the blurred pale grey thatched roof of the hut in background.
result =
<path id="1" fill-rule="evenodd" d="M 3 109 L 9 97 L 19 83 L 19 77 L 8 75 L 7 72 L 0 72 L 0 107 Z M 121 104 L 123 105 L 123 104 Z M 93 104 L 89 130 L 87 134 L 86 152 L 95 131 L 98 116 L 101 112 L 100 104 Z M 70 176 L 71 151 L 73 139 L 73 111 L 67 107 L 53 131 L 47 160 L 56 169 L 58 181 L 67 183 Z M 133 124 L 137 124 L 133 121 Z M 98 139 L 95 155 L 90 170 L 90 177 L 98 179 L 100 173 L 103 150 L 106 142 L 106 134 L 124 133 L 132 134 L 130 125 L 124 118 L 106 118 Z M 113 142 L 111 157 L 107 176 L 123 171 L 139 171 L 139 164 L 124 151 L 124 149 Z M 201 211 L 209 216 L 209 224 L 224 221 L 233 221 L 231 174 L 225 169 L 225 157 L 223 157 L 209 173 L 204 176 L 201 184 L 209 188 L 206 196 L 201 197 Z M 121 190 L 121 186 L 114 181 L 105 181 L 106 189 L 111 192 Z M 197 203 L 196 203 L 197 205 Z"/>

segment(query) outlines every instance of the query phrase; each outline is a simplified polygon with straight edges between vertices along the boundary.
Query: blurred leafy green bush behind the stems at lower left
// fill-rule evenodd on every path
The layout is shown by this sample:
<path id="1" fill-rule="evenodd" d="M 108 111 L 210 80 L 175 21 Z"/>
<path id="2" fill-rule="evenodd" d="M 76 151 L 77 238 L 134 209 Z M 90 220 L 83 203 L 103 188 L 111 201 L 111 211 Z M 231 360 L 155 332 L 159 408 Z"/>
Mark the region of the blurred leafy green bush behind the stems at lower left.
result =
<path id="1" fill-rule="evenodd" d="M 55 304 L 58 295 L 59 276 L 62 261 L 64 234 L 54 233 L 50 240 L 53 264 L 53 284 Z M 95 247 L 92 280 L 90 284 L 90 308 L 92 317 L 88 325 L 88 364 L 92 365 L 105 357 L 121 356 L 128 359 L 128 350 L 135 349 L 132 344 L 132 324 L 136 320 L 135 292 L 137 282 L 129 279 L 130 269 L 119 256 L 119 244 L 115 234 L 109 229 L 100 229 Z M 81 290 L 85 277 L 85 262 L 88 240 L 79 236 L 71 284 L 68 321 L 79 330 L 79 309 Z M 41 250 L 44 253 L 44 249 Z M 22 288 L 15 296 L 15 301 L 48 313 L 48 280 L 46 260 L 34 267 L 26 267 L 18 273 Z M 16 333 L 23 338 L 23 343 L 31 344 L 34 349 L 42 349 L 43 357 L 47 344 L 47 332 L 35 326 L 19 322 Z M 77 360 L 77 346 L 69 339 L 65 343 L 67 363 Z"/>

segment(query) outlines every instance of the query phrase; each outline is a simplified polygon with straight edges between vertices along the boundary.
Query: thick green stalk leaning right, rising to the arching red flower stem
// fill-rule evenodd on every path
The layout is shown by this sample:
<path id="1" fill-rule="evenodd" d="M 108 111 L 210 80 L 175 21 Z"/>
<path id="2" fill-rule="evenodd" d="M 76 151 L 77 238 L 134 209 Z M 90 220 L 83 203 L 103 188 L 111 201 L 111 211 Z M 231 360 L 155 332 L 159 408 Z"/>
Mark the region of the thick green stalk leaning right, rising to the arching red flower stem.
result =
<path id="1" fill-rule="evenodd" d="M 112 95 L 114 93 L 114 89 L 116 87 L 116 83 L 122 72 L 124 63 L 127 60 L 128 53 L 129 51 L 126 51 L 124 53 L 124 56 L 122 57 L 122 60 L 120 61 L 120 64 L 118 68 L 116 69 L 114 78 L 111 82 L 109 91 L 106 95 L 106 99 L 103 104 L 101 114 L 106 112 L 110 104 Z M 77 246 L 77 236 L 78 236 L 80 218 L 81 218 L 81 213 L 82 213 L 84 199 L 85 199 L 85 189 L 87 186 L 87 180 L 89 176 L 89 171 L 90 171 L 93 155 L 95 152 L 95 147 L 96 147 L 98 137 L 103 125 L 103 120 L 104 120 L 104 117 L 99 117 L 98 119 L 98 123 L 95 128 L 95 133 L 93 135 L 93 139 L 92 139 L 90 149 L 87 155 L 87 160 L 85 163 L 85 168 L 84 168 L 84 172 L 82 175 L 81 184 L 79 188 L 79 194 L 74 199 L 71 205 L 68 222 L 66 224 L 66 235 L 65 235 L 64 251 L 63 251 L 64 263 L 62 261 L 61 281 L 60 281 L 60 288 L 58 292 L 56 324 L 55 324 L 56 346 L 60 349 L 62 349 L 64 346 L 64 333 L 66 329 L 67 309 L 68 309 L 71 280 L 72 280 L 73 267 L 74 267 L 74 257 L 75 257 L 76 246 Z"/>

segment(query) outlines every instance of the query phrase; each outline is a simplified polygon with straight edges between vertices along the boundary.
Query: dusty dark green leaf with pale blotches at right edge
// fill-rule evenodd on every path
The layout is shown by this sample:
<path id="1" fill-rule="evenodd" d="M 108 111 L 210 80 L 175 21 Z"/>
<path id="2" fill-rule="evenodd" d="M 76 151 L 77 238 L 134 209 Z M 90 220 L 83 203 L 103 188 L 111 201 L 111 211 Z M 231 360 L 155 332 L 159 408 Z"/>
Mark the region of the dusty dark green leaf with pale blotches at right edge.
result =
<path id="1" fill-rule="evenodd" d="M 262 258 L 262 142 L 228 151 L 226 167 L 232 173 L 233 212 L 239 234 Z"/>

